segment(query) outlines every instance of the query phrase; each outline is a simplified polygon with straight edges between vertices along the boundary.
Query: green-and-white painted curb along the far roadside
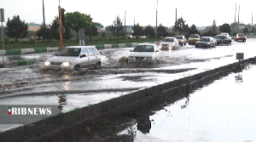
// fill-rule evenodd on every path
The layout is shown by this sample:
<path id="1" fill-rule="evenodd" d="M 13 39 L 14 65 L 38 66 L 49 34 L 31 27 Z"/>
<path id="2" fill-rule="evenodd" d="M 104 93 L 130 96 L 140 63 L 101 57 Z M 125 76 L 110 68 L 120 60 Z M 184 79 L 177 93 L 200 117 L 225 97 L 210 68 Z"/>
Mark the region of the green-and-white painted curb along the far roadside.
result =
<path id="1" fill-rule="evenodd" d="M 153 42 L 158 44 L 159 42 Z M 119 44 L 103 44 L 103 45 L 91 45 L 95 46 L 97 49 L 101 48 L 128 48 L 135 47 L 138 43 L 119 43 Z M 59 48 L 21 48 L 21 49 L 6 49 L 0 50 L 0 55 L 17 55 L 17 54 L 32 54 L 32 53 L 43 53 L 58 51 Z"/>

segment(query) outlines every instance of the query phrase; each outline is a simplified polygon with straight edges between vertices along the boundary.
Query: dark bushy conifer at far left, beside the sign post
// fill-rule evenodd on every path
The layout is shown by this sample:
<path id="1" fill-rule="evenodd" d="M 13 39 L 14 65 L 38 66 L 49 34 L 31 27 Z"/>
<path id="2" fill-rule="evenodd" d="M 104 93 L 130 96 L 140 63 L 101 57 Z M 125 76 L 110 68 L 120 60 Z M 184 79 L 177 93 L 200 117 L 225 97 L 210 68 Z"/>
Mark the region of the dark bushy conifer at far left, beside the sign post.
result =
<path id="1" fill-rule="evenodd" d="M 25 24 L 25 21 L 21 21 L 20 20 L 20 16 L 19 15 L 14 15 L 12 20 L 9 20 L 6 23 L 6 35 L 10 38 L 24 38 L 27 36 L 27 29 L 28 26 L 27 24 Z"/>

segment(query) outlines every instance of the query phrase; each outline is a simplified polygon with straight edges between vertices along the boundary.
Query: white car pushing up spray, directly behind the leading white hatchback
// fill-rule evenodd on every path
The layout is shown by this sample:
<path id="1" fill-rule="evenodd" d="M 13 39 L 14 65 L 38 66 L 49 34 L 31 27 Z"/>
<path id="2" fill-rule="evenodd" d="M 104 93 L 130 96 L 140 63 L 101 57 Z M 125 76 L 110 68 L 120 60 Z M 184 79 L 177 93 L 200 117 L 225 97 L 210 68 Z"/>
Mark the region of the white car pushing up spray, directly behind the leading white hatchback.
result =
<path id="1" fill-rule="evenodd" d="M 136 61 L 155 61 L 160 58 L 160 50 L 155 43 L 139 43 L 131 50 L 128 63 Z"/>

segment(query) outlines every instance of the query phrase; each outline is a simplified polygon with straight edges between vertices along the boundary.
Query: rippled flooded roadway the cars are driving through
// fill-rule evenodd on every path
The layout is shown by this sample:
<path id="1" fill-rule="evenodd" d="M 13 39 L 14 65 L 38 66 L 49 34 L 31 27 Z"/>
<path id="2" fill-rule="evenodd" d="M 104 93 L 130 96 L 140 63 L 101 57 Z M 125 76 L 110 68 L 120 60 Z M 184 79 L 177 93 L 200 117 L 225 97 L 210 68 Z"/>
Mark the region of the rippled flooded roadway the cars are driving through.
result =
<path id="1" fill-rule="evenodd" d="M 255 38 L 216 48 L 186 45 L 161 51 L 160 63 L 127 65 L 119 62 L 132 48 L 108 48 L 102 54 L 102 68 L 83 71 L 44 71 L 43 61 L 32 65 L 0 68 L 0 105 L 58 105 L 65 94 L 64 110 L 96 104 L 160 83 L 236 62 L 236 53 L 255 56 Z M 55 54 L 55 53 L 52 53 Z M 52 54 L 25 54 L 21 59 L 46 59 Z M 150 117 L 151 118 L 151 117 Z"/>

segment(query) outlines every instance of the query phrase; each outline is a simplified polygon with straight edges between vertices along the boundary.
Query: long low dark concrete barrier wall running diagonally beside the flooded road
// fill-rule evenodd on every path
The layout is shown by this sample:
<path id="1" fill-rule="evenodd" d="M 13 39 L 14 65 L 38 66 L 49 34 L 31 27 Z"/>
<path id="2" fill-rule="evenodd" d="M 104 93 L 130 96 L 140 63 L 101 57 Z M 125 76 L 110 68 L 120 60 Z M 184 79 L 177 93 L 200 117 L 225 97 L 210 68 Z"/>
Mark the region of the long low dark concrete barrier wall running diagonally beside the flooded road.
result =
<path id="1" fill-rule="evenodd" d="M 252 59 L 242 60 L 241 63 L 246 63 L 250 60 Z M 19 128 L 13 128 L 0 133 L 0 141 L 21 141 L 27 138 L 34 138 L 40 133 L 50 132 L 56 128 L 68 129 L 74 123 L 84 122 L 89 119 L 96 120 L 104 115 L 113 116 L 119 112 L 143 108 L 175 94 L 185 95 L 188 94 L 187 90 L 201 87 L 207 82 L 210 83 L 219 77 L 227 76 L 234 65 L 238 65 L 238 62 L 189 77 L 183 77 L 172 82 L 165 82 L 151 88 L 139 89 L 137 92 L 125 94 L 119 98 L 105 100 L 95 105 L 62 113 L 38 122 L 32 122 Z"/>

